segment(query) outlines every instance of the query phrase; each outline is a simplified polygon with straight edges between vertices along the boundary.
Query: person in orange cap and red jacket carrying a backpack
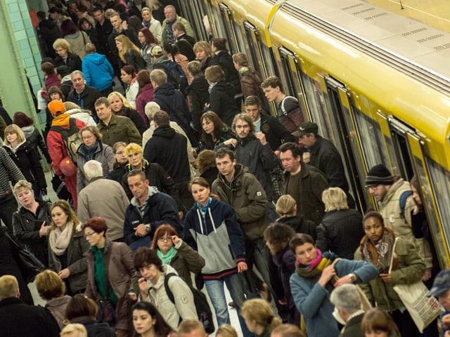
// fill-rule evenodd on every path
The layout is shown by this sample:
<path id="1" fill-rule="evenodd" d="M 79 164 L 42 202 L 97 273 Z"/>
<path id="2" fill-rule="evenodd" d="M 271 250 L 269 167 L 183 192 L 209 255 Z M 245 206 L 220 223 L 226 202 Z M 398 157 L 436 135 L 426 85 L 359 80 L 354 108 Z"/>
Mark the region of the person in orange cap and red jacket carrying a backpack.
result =
<path id="1" fill-rule="evenodd" d="M 47 134 L 47 146 L 54 164 L 53 169 L 61 180 L 64 180 L 77 209 L 77 150 L 82 145 L 79 130 L 86 124 L 79 119 L 70 118 L 60 100 L 52 100 L 48 107 L 53 116 Z"/>

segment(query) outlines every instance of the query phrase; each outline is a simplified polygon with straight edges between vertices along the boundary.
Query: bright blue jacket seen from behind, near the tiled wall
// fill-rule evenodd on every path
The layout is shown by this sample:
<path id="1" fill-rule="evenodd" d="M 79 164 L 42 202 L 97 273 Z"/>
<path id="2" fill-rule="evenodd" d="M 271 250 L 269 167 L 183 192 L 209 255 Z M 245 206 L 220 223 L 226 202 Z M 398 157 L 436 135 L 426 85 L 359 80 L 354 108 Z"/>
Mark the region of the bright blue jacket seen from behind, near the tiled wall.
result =
<path id="1" fill-rule="evenodd" d="M 86 55 L 82 62 L 86 85 L 103 91 L 113 85 L 114 70 L 105 55 L 93 53 Z"/>

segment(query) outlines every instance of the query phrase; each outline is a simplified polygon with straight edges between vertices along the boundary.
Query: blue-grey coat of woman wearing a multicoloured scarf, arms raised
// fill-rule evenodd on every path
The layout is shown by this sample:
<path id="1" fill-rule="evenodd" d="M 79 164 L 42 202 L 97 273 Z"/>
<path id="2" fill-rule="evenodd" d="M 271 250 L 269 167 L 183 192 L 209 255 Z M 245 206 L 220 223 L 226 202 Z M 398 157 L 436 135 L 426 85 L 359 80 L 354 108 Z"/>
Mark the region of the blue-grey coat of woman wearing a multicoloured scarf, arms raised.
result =
<path id="1" fill-rule="evenodd" d="M 361 263 L 362 262 L 362 263 Z M 378 277 L 378 268 L 365 261 L 340 259 L 335 264 L 336 275 L 343 277 L 353 272 L 361 282 Z M 330 302 L 330 292 L 317 281 L 321 274 L 306 279 L 297 272 L 290 277 L 290 291 L 295 306 L 304 317 L 308 337 L 338 337 L 338 322 L 333 319 L 334 306 Z"/>

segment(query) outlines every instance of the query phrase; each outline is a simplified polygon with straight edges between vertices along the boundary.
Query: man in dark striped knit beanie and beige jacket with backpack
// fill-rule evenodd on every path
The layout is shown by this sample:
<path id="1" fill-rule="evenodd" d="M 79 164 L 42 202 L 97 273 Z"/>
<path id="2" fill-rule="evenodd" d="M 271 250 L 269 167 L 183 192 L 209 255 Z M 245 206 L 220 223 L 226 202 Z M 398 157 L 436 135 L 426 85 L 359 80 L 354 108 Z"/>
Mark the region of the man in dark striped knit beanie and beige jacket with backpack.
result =
<path id="1" fill-rule="evenodd" d="M 430 245 L 423 238 L 416 239 L 411 227 L 411 211 L 415 204 L 409 182 L 400 176 L 393 176 L 386 166 L 378 164 L 368 171 L 366 188 L 378 202 L 385 227 L 392 230 L 396 237 L 403 237 L 406 241 L 416 244 L 427 268 L 422 280 L 430 279 L 432 270 Z"/>

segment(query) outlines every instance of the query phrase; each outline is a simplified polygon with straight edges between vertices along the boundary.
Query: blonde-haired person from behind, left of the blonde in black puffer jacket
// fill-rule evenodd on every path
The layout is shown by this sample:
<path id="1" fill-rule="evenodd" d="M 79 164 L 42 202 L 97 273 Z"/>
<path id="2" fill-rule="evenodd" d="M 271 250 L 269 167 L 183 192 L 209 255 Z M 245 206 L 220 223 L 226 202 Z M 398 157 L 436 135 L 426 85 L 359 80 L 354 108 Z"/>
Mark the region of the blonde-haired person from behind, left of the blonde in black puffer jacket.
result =
<path id="1" fill-rule="evenodd" d="M 278 198 L 275 210 L 280 218 L 277 223 L 289 225 L 295 232 L 309 234 L 316 239 L 316 224 L 303 218 L 302 213 L 297 214 L 297 203 L 289 194 L 283 194 Z"/>

